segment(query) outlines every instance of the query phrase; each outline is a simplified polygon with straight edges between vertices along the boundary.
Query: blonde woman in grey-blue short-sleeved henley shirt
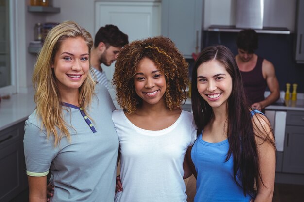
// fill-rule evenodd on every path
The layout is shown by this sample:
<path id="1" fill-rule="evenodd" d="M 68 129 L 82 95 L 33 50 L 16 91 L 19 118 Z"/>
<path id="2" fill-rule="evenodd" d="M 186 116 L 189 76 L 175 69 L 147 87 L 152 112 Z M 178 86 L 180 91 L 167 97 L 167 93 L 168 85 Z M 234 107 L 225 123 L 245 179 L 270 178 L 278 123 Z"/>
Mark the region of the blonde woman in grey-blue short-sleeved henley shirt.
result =
<path id="1" fill-rule="evenodd" d="M 89 32 L 65 21 L 47 35 L 35 64 L 36 109 L 25 124 L 30 202 L 113 202 L 118 136 L 105 87 L 90 77 Z"/>

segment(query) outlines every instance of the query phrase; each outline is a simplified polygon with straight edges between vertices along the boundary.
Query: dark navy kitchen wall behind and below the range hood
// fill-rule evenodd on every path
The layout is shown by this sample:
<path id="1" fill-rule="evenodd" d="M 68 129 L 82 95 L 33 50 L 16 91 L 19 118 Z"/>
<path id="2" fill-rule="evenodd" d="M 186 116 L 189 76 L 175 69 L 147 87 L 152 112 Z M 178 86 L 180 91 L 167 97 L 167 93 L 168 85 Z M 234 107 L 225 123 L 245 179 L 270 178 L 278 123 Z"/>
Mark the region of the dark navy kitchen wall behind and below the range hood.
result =
<path id="1" fill-rule="evenodd" d="M 236 32 L 204 31 L 203 46 L 221 44 L 236 55 Z M 304 64 L 295 62 L 295 34 L 259 34 L 259 48 L 256 54 L 274 65 L 280 90 L 286 90 L 286 83 L 297 83 L 298 93 L 304 93 Z M 190 74 L 194 61 L 187 60 Z M 291 89 L 292 90 L 292 89 Z"/>

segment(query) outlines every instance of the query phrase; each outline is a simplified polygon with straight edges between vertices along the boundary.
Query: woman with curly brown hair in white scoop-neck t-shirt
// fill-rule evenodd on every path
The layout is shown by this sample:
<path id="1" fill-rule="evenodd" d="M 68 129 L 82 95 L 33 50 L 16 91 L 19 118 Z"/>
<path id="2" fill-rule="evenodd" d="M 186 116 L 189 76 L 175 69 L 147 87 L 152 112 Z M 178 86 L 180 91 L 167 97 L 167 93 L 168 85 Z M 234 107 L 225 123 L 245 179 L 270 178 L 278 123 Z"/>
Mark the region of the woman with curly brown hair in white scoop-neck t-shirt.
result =
<path id="1" fill-rule="evenodd" d="M 183 162 L 194 143 L 186 99 L 188 64 L 169 38 L 126 45 L 113 84 L 122 109 L 112 119 L 119 139 L 120 179 L 115 202 L 186 202 Z"/>

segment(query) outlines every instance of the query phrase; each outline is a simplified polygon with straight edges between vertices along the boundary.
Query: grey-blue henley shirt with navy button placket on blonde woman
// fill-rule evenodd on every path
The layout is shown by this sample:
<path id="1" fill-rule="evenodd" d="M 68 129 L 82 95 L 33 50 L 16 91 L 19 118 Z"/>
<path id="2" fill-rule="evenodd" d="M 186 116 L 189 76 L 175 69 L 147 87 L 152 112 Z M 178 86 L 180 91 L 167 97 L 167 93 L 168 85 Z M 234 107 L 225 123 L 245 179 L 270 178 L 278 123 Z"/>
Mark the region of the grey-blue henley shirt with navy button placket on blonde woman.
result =
<path id="1" fill-rule="evenodd" d="M 51 135 L 41 129 L 34 111 L 25 124 L 24 154 L 27 174 L 46 176 L 49 169 L 55 186 L 52 202 L 113 202 L 118 155 L 118 136 L 112 122 L 115 109 L 107 89 L 96 86 L 90 120 L 73 105 L 62 107 L 71 142 L 66 138 L 54 146 Z M 76 132 L 77 131 L 77 132 Z"/>

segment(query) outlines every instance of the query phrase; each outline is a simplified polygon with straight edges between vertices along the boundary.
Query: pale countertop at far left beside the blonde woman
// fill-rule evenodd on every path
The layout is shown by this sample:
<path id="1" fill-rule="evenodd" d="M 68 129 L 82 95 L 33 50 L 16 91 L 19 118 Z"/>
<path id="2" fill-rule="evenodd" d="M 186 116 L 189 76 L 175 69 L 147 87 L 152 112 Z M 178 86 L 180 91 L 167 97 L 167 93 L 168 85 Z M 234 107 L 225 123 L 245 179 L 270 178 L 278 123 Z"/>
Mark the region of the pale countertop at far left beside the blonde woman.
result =
<path id="1" fill-rule="evenodd" d="M 0 131 L 26 119 L 34 111 L 34 93 L 17 93 L 0 103 Z"/>

